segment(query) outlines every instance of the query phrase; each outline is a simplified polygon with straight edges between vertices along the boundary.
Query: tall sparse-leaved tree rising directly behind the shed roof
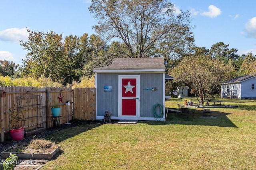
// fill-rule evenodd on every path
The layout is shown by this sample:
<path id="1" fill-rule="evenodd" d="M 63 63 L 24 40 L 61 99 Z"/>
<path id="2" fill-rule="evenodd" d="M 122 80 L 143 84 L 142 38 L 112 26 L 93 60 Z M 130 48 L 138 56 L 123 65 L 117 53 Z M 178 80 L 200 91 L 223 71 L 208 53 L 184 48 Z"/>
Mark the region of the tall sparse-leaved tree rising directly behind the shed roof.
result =
<path id="1" fill-rule="evenodd" d="M 95 31 L 121 40 L 129 57 L 149 57 L 164 35 L 190 22 L 188 11 L 175 15 L 167 0 L 92 0 L 89 10 L 99 20 Z"/>

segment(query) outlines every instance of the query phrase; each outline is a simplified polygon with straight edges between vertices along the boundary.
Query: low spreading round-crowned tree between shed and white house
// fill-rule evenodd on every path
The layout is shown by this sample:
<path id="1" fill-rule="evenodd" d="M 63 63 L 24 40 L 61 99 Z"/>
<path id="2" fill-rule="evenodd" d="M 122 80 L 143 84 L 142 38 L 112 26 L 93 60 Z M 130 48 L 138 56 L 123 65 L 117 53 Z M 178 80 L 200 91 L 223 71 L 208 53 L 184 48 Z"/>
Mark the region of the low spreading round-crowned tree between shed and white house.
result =
<path id="1" fill-rule="evenodd" d="M 212 92 L 212 88 L 232 78 L 234 72 L 232 66 L 219 59 L 212 59 L 209 55 L 195 55 L 184 58 L 172 70 L 172 75 L 175 81 L 188 84 L 198 101 L 204 104 L 204 99 Z"/>

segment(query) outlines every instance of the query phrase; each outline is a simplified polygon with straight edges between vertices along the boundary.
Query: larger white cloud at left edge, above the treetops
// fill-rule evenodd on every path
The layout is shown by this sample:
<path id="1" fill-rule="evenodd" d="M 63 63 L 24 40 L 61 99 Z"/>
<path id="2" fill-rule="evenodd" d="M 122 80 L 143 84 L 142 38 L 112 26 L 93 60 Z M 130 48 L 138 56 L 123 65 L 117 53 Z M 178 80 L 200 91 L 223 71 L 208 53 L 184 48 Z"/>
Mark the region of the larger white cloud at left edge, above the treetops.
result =
<path id="1" fill-rule="evenodd" d="M 0 40 L 18 43 L 20 39 L 28 39 L 29 33 L 26 28 L 9 28 L 0 31 Z"/>

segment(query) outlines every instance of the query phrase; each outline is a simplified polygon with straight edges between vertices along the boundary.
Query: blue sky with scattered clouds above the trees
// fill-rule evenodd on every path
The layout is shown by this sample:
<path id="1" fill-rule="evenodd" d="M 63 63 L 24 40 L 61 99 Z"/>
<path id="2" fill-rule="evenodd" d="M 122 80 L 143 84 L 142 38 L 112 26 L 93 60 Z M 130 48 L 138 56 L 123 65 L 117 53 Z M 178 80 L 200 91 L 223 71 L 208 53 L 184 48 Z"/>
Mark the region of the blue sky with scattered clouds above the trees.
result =
<path id="1" fill-rule="evenodd" d="M 223 42 L 238 55 L 256 54 L 256 0 L 170 0 L 175 13 L 189 10 L 195 45 L 209 49 Z M 0 60 L 21 64 L 28 51 L 26 28 L 44 33 L 92 35 L 94 20 L 90 0 L 0 0 Z"/>

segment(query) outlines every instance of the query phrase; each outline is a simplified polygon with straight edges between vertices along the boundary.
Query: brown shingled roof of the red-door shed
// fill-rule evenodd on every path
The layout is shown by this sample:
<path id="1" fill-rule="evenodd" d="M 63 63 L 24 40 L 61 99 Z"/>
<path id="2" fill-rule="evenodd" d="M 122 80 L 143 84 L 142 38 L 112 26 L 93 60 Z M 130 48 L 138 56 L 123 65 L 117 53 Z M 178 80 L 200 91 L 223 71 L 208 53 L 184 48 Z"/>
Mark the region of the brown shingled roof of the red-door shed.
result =
<path id="1" fill-rule="evenodd" d="M 94 68 L 94 72 L 165 72 L 164 58 L 115 58 L 111 65 Z"/>

